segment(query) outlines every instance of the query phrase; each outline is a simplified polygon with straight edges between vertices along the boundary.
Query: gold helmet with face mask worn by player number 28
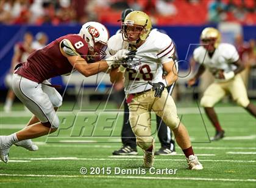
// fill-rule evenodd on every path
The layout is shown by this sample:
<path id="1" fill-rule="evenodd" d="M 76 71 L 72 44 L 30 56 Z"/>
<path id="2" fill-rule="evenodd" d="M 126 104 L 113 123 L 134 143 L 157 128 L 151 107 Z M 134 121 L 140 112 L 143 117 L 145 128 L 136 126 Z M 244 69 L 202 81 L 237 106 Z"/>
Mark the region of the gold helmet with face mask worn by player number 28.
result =
<path id="1" fill-rule="evenodd" d="M 149 16 L 141 11 L 130 12 L 122 23 L 121 33 L 124 41 L 142 41 L 148 38 L 152 24 Z"/>

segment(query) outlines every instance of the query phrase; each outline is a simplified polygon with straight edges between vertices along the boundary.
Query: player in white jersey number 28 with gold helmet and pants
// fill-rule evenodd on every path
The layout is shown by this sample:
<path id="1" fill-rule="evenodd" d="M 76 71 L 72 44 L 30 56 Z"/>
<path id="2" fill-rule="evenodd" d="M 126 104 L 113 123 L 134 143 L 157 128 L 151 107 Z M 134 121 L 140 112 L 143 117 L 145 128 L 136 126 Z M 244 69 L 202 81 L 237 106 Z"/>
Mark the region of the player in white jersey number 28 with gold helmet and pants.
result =
<path id="1" fill-rule="evenodd" d="M 144 167 L 154 164 L 154 138 L 151 136 L 151 110 L 174 132 L 192 170 L 203 169 L 191 147 L 187 129 L 180 123 L 175 103 L 165 89 L 177 79 L 173 61 L 175 47 L 168 35 L 154 30 L 146 13 L 133 11 L 126 16 L 121 33 L 112 36 L 108 49 L 113 55 L 128 49 L 134 57 L 110 72 L 112 82 L 123 79 L 129 106 L 129 120 L 137 145 L 144 151 Z M 135 53 L 136 52 L 136 53 Z M 130 59 L 129 59 L 130 60 Z M 167 72 L 163 77 L 163 70 Z"/>

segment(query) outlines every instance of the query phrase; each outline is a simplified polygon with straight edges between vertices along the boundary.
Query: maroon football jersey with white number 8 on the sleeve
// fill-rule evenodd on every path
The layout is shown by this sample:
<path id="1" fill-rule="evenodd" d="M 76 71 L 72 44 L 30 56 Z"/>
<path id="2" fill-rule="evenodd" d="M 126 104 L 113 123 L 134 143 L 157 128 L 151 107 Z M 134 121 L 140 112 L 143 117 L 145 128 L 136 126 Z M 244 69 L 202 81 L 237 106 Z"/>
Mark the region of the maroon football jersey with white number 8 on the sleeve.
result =
<path id="1" fill-rule="evenodd" d="M 31 53 L 27 58 L 27 62 L 24 62 L 15 73 L 38 83 L 55 76 L 70 73 L 73 70 L 73 66 L 60 52 L 60 42 L 63 39 L 68 39 L 79 55 L 82 57 L 87 55 L 88 44 L 83 38 L 79 35 L 65 35 L 55 39 L 43 49 Z"/>

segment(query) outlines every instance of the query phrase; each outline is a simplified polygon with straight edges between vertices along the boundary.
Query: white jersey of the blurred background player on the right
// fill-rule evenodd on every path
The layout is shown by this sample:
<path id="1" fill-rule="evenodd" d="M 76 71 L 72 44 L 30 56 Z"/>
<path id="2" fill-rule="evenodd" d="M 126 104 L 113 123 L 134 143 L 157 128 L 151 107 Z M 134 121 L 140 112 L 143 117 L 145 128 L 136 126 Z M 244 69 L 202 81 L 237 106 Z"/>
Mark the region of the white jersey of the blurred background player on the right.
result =
<path id="1" fill-rule="evenodd" d="M 218 70 L 224 70 L 224 72 L 235 70 L 236 65 L 232 63 L 238 61 L 239 55 L 232 44 L 221 43 L 215 49 L 212 58 L 210 58 L 207 50 L 202 46 L 194 50 L 193 58 L 215 75 Z"/>

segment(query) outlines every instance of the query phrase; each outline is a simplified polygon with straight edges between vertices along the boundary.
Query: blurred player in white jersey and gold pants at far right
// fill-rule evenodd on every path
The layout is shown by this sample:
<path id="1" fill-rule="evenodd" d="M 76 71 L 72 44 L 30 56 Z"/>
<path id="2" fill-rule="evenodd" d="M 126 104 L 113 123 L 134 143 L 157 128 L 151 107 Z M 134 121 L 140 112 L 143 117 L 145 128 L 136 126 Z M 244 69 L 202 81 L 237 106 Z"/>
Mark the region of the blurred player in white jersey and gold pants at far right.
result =
<path id="1" fill-rule="evenodd" d="M 194 61 L 200 64 L 196 75 L 188 81 L 188 86 L 193 86 L 196 80 L 209 69 L 215 76 L 215 82 L 208 86 L 201 99 L 201 106 L 216 129 L 212 141 L 224 137 L 224 130 L 221 128 L 218 117 L 213 107 L 227 93 L 230 93 L 233 100 L 244 107 L 251 115 L 256 116 L 256 107 L 247 97 L 244 82 L 240 72 L 244 69 L 240 63 L 238 52 L 232 44 L 219 43 L 221 34 L 213 27 L 205 28 L 201 33 L 202 45 L 193 52 Z"/>

